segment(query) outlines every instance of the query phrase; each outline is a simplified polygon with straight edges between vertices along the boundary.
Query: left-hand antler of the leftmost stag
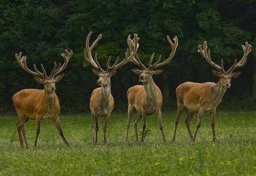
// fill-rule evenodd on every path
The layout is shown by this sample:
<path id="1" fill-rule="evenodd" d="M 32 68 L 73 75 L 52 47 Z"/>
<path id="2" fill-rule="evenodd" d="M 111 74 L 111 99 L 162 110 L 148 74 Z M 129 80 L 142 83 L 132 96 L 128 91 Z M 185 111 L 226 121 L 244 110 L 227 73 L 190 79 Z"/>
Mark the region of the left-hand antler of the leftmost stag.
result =
<path id="1" fill-rule="evenodd" d="M 28 67 L 27 67 L 27 57 L 23 56 L 22 57 L 22 53 L 20 52 L 19 55 L 16 53 L 15 54 L 16 60 L 18 61 L 20 67 L 23 68 L 23 70 L 27 71 L 29 74 L 34 75 L 34 76 L 39 76 L 40 78 L 46 78 L 46 70 L 44 70 L 44 66 L 41 64 L 43 73 L 38 71 L 38 69 L 36 68 L 35 64 L 34 64 L 34 69 L 36 72 L 31 71 Z"/>

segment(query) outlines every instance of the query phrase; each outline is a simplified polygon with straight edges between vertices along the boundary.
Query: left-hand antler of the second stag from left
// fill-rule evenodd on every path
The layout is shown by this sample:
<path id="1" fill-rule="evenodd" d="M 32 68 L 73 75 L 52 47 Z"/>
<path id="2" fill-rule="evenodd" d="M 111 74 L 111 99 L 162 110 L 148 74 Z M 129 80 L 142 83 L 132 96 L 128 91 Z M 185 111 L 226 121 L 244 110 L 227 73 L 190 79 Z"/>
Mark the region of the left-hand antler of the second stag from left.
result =
<path id="1" fill-rule="evenodd" d="M 98 35 L 97 39 L 93 42 L 92 46 L 89 46 L 89 40 L 90 40 L 90 36 L 92 35 L 92 32 L 89 32 L 88 36 L 86 37 L 86 42 L 85 42 L 85 50 L 84 50 L 84 58 L 86 61 L 88 61 L 90 63 L 90 65 L 92 65 L 96 70 L 98 71 L 103 71 L 102 68 L 98 67 L 97 63 L 95 63 L 95 59 L 93 59 L 92 57 L 92 49 L 94 48 L 94 46 L 97 44 L 98 41 L 100 41 L 102 35 Z M 88 57 L 87 54 L 88 53 Z"/>

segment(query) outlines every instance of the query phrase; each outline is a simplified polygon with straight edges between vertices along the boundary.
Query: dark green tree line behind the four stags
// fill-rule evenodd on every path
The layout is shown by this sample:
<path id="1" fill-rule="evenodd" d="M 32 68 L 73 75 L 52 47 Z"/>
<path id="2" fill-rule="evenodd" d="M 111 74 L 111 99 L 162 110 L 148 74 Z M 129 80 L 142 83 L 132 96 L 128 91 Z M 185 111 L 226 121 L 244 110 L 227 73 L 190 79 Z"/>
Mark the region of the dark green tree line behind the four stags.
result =
<path id="1" fill-rule="evenodd" d="M 97 78 L 84 60 L 85 38 L 92 40 L 102 33 L 96 46 L 98 59 L 105 65 L 109 55 L 125 57 L 126 38 L 138 33 L 139 58 L 146 64 L 153 52 L 166 59 L 171 52 L 166 36 L 179 38 L 171 63 L 154 80 L 162 90 L 164 107 L 175 106 L 175 89 L 185 81 L 218 81 L 212 67 L 197 47 L 206 40 L 211 58 L 217 64 L 224 59 L 230 67 L 243 55 L 241 45 L 248 41 L 253 50 L 239 78 L 232 80 L 226 97 L 230 100 L 256 99 L 256 2 L 197 0 L 126 0 L 126 1 L 10 1 L 0 4 L 0 113 L 13 111 L 12 96 L 25 88 L 42 89 L 31 75 L 23 71 L 15 53 L 27 55 L 27 65 L 43 63 L 49 73 L 53 63 L 63 63 L 60 54 L 73 50 L 73 57 L 57 83 L 61 111 L 79 113 L 89 110 L 89 98 L 97 87 Z M 156 59 L 155 58 L 155 59 Z M 114 59 L 113 59 L 114 60 Z M 128 63 L 112 78 L 112 92 L 117 108 L 126 107 L 126 91 L 139 84 Z M 243 101 L 244 102 L 244 101 Z M 253 106 L 249 107 L 253 108 Z M 255 108 L 254 108 L 255 109 Z"/>

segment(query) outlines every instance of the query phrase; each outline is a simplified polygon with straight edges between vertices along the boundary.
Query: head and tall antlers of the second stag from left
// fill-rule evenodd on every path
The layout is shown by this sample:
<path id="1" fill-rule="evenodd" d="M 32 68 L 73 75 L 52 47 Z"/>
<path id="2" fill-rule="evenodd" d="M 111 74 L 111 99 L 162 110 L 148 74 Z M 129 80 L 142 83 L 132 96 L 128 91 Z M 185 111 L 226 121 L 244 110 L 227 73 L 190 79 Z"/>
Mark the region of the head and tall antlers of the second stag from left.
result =
<path id="1" fill-rule="evenodd" d="M 107 67 L 106 71 L 104 71 L 101 68 L 100 64 L 98 63 L 97 53 L 95 53 L 94 58 L 92 57 L 92 49 L 97 44 L 97 42 L 101 39 L 102 35 L 99 35 L 98 38 L 96 39 L 96 41 L 94 41 L 93 44 L 91 46 L 89 46 L 89 40 L 90 40 L 91 35 L 92 35 L 92 32 L 90 32 L 86 38 L 86 44 L 85 44 L 85 49 L 84 49 L 84 58 L 86 61 L 88 61 L 90 63 L 90 65 L 92 65 L 93 74 L 99 76 L 97 83 L 99 85 L 106 86 L 110 83 L 110 78 L 111 78 L 111 76 L 115 75 L 115 73 L 117 72 L 117 69 L 119 67 L 125 65 L 127 62 L 130 61 L 131 58 L 134 57 L 134 55 L 137 51 L 137 48 L 139 46 L 137 35 L 134 34 L 134 46 L 136 49 L 134 49 L 133 52 L 130 53 L 130 55 L 129 55 L 129 52 L 127 49 L 127 51 L 125 53 L 125 59 L 123 59 L 122 62 L 118 63 L 119 57 L 117 57 L 117 60 L 115 61 L 114 65 L 111 67 L 110 67 L 111 57 L 109 57 L 108 62 L 106 63 L 106 67 Z M 129 42 L 130 40 L 131 39 L 130 39 L 130 35 L 129 35 L 127 38 L 127 42 Z"/>

